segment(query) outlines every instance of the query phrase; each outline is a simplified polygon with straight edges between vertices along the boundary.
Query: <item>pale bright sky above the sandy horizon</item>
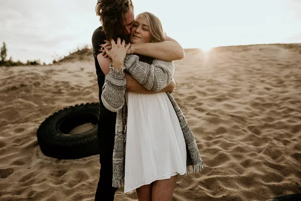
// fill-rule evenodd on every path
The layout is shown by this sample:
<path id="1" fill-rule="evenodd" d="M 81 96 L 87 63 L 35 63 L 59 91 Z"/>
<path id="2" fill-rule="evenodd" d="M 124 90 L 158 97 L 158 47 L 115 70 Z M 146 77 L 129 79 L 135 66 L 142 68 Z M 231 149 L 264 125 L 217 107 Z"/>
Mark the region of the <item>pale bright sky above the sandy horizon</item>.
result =
<path id="1" fill-rule="evenodd" d="M 155 14 L 183 48 L 301 43 L 301 0 L 132 0 Z M 0 0 L 0 43 L 8 58 L 51 63 L 91 45 L 97 0 Z M 92 56 L 92 55 L 91 55 Z"/>

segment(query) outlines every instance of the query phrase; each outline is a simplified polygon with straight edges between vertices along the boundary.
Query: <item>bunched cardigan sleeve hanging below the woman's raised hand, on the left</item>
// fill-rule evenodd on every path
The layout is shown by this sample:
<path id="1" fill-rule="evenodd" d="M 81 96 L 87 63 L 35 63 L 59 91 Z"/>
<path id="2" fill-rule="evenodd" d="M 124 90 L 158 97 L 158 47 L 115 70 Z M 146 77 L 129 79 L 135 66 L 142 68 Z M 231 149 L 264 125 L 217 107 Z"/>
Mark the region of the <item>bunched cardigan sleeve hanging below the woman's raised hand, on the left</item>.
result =
<path id="1" fill-rule="evenodd" d="M 110 66 L 111 70 L 105 76 L 101 100 L 104 107 L 111 112 L 117 112 L 124 106 L 126 90 L 125 68 L 126 65 L 118 71 L 116 68 Z"/>

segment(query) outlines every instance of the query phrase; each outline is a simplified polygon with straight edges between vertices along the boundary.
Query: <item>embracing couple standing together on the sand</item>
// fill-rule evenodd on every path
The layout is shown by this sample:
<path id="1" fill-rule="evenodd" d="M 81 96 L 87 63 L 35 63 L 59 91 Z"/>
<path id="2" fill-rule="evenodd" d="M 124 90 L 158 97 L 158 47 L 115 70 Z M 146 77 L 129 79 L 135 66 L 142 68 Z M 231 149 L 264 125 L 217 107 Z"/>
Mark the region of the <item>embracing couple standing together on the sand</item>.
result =
<path id="1" fill-rule="evenodd" d="M 177 176 L 203 169 L 187 121 L 171 94 L 182 47 L 155 15 L 134 19 L 131 0 L 98 0 L 92 36 L 99 86 L 100 177 L 95 200 L 118 187 L 138 200 L 171 200 Z"/>

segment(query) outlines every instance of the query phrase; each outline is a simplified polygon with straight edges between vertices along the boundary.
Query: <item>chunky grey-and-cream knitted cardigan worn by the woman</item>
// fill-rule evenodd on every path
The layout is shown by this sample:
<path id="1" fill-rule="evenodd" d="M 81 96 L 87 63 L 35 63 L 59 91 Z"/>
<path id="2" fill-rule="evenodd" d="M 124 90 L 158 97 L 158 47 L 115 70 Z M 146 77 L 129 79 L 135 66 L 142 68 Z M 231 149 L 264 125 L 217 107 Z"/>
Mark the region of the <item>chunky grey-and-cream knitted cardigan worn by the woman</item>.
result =
<path id="1" fill-rule="evenodd" d="M 173 79 L 173 62 L 154 59 L 152 64 L 139 61 L 137 55 L 127 55 L 123 67 L 118 71 L 110 65 L 105 77 L 101 100 L 103 105 L 116 114 L 115 142 L 113 150 L 113 187 L 124 185 L 125 143 L 127 127 L 127 106 L 125 103 L 126 78 L 124 70 L 131 74 L 148 90 L 160 91 L 167 87 Z M 187 151 L 187 172 L 199 172 L 204 169 L 195 138 L 187 121 L 177 105 L 173 95 L 166 92 L 178 116 L 183 131 Z"/>

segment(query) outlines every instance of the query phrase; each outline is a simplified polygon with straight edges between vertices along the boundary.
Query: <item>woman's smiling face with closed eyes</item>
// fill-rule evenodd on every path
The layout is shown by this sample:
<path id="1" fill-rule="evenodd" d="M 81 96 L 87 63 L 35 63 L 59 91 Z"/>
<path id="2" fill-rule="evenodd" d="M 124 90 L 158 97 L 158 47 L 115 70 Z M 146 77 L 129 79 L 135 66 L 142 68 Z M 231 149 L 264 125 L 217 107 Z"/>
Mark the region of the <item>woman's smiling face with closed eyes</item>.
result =
<path id="1" fill-rule="evenodd" d="M 144 16 L 137 16 L 135 19 L 134 25 L 130 30 L 130 41 L 132 43 L 152 42 L 149 25 Z"/>

